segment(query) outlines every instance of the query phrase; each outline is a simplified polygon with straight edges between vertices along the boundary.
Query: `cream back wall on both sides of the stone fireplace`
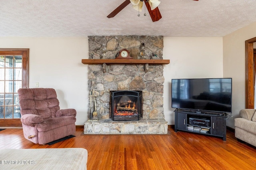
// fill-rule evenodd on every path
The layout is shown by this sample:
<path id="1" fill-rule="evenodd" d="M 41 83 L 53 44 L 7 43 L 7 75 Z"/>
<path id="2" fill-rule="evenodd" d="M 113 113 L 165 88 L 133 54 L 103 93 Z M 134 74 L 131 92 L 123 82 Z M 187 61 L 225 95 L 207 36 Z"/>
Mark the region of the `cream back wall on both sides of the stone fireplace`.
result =
<path id="1" fill-rule="evenodd" d="M 88 38 L 0 38 L 1 48 L 29 48 L 29 87 L 56 89 L 60 108 L 77 111 L 76 125 L 87 120 Z M 164 114 L 169 125 L 174 125 L 171 108 L 172 78 L 219 78 L 222 68 L 222 37 L 164 37 Z"/>

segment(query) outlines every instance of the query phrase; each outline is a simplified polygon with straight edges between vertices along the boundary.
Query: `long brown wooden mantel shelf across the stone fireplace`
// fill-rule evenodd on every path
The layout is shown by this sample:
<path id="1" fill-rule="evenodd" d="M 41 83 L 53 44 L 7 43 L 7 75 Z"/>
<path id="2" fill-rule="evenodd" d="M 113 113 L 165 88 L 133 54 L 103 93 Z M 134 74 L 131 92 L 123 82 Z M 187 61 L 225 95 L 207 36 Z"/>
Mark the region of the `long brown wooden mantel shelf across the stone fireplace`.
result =
<path id="1" fill-rule="evenodd" d="M 82 59 L 83 64 L 169 64 L 170 60 L 148 59 Z"/>

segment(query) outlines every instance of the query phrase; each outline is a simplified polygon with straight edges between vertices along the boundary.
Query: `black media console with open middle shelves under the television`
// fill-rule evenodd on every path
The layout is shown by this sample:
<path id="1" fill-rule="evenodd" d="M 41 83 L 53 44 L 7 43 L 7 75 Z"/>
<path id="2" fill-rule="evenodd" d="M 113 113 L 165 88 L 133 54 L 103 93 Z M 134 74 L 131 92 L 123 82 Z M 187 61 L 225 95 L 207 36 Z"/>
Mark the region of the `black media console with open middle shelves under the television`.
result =
<path id="1" fill-rule="evenodd" d="M 174 112 L 175 132 L 200 133 L 222 137 L 223 141 L 226 141 L 226 115 L 192 112 L 185 109 L 176 109 Z"/>

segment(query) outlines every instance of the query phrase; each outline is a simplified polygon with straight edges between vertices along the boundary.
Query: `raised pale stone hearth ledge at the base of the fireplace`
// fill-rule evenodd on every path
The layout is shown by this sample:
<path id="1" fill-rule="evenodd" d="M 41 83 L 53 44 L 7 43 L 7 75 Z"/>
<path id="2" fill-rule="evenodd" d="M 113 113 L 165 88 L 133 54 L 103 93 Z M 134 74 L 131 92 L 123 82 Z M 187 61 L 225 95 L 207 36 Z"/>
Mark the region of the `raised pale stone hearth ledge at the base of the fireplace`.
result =
<path id="1" fill-rule="evenodd" d="M 84 134 L 167 134 L 164 119 L 140 119 L 139 121 L 86 121 Z"/>

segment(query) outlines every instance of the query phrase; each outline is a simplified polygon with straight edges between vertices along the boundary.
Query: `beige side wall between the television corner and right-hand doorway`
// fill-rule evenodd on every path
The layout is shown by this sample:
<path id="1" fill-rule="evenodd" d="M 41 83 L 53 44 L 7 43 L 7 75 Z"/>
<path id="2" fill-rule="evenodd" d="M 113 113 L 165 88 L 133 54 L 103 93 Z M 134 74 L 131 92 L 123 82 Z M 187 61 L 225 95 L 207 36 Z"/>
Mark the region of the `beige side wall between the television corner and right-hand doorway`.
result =
<path id="1" fill-rule="evenodd" d="M 232 77 L 232 115 L 240 117 L 245 108 L 245 41 L 256 37 L 256 23 L 234 31 L 223 37 L 223 74 Z M 234 128 L 234 120 L 227 126 Z"/>

